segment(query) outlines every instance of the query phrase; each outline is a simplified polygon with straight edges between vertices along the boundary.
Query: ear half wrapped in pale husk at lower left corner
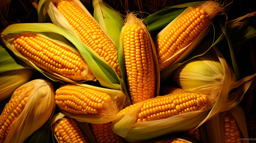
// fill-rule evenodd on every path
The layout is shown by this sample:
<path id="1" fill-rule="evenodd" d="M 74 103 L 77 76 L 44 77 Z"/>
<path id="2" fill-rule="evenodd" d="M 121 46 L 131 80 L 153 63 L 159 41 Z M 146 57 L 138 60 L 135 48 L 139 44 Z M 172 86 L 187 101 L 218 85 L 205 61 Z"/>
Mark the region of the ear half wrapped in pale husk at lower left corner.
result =
<path id="1" fill-rule="evenodd" d="M 23 142 L 47 122 L 54 110 L 54 89 L 35 79 L 17 88 L 0 116 L 1 142 Z"/>

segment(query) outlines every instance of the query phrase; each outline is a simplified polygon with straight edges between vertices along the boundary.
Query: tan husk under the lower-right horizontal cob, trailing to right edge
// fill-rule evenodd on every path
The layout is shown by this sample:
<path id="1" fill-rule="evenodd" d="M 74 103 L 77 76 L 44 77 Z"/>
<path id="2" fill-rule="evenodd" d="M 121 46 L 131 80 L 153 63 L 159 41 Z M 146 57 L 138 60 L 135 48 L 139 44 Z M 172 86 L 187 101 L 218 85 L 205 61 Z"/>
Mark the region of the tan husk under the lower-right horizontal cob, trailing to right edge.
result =
<path id="1" fill-rule="evenodd" d="M 223 66 L 224 79 L 217 97 L 209 96 L 209 100 L 212 101 L 212 108 L 178 114 L 161 120 L 134 123 L 144 103 L 138 102 L 137 106 L 129 110 L 120 119 L 112 122 L 113 132 L 127 139 L 127 141 L 143 141 L 165 135 L 166 133 L 177 133 L 189 129 L 196 129 L 211 119 L 215 114 L 230 110 L 238 105 L 242 101 L 243 95 L 248 90 L 256 74 L 234 83 L 232 79 L 234 78 L 232 77 L 234 74 L 228 68 L 229 66 L 226 60 L 216 48 L 213 49 L 215 49 L 214 51 L 218 55 L 218 60 L 220 60 Z M 231 88 L 234 89 L 232 93 L 230 93 Z"/>

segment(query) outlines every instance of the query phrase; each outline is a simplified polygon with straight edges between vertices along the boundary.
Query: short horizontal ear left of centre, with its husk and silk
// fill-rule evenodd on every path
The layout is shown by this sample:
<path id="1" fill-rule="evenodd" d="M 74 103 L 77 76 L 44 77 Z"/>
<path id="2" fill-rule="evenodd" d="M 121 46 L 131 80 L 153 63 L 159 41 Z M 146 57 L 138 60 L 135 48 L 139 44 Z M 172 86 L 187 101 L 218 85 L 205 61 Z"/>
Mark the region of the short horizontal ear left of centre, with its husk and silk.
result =
<path id="1" fill-rule="evenodd" d="M 55 102 L 67 116 L 87 123 L 115 120 L 126 104 L 124 92 L 90 85 L 64 85 L 55 92 Z"/>

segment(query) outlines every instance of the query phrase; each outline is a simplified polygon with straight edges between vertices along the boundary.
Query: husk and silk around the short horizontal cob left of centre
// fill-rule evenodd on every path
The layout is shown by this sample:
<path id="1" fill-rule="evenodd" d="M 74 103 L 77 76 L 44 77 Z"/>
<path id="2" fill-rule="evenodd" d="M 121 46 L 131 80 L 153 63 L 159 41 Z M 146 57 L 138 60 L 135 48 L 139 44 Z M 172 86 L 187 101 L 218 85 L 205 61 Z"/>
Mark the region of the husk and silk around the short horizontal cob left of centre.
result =
<path id="1" fill-rule="evenodd" d="M 74 113 L 69 113 L 64 110 L 60 110 L 66 116 L 71 117 L 73 119 L 78 120 L 79 122 L 87 122 L 87 123 L 108 123 L 112 122 L 113 120 L 118 119 L 116 114 L 120 111 L 125 105 L 129 105 L 129 98 L 124 94 L 124 92 L 115 90 L 115 89 L 107 89 L 107 88 L 100 88 L 97 86 L 87 85 L 87 84 L 76 84 L 78 86 L 84 88 L 94 89 L 96 91 L 104 92 L 111 97 L 112 105 L 109 105 L 110 108 L 106 108 L 105 112 L 101 111 L 101 114 L 92 114 L 92 115 L 79 115 Z M 115 108 L 113 108 L 115 107 Z"/>

